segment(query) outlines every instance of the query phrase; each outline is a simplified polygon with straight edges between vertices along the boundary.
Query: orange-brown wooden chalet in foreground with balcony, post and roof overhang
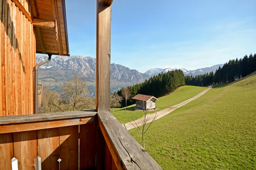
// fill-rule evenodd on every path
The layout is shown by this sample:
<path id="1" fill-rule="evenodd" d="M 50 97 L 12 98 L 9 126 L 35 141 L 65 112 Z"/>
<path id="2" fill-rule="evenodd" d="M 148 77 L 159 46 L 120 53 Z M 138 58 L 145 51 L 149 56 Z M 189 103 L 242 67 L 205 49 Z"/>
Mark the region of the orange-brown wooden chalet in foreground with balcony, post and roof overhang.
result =
<path id="1" fill-rule="evenodd" d="M 36 69 L 69 55 L 65 1 L 0 0 L 1 170 L 161 170 L 110 112 L 112 1 L 96 0 L 96 110 L 39 114 Z"/>

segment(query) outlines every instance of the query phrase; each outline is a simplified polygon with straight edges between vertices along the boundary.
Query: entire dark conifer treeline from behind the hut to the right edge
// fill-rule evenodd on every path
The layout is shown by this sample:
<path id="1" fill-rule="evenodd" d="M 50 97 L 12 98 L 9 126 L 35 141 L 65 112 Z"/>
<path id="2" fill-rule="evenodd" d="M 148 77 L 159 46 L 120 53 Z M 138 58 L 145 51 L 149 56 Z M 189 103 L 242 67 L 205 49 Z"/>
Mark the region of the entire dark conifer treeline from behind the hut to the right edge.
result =
<path id="1" fill-rule="evenodd" d="M 143 83 L 128 86 L 127 88 L 131 92 L 131 95 L 127 100 L 127 105 L 135 103 L 131 98 L 137 94 L 161 97 L 175 91 L 175 89 L 183 85 L 209 86 L 212 84 L 233 82 L 251 74 L 254 71 L 256 71 L 256 54 L 250 54 L 249 57 L 245 55 L 241 59 L 232 59 L 229 62 L 226 62 L 222 68 L 219 67 L 215 73 L 212 71 L 195 77 L 184 76 L 183 71 L 181 70 L 160 73 L 148 80 L 146 79 Z M 124 88 L 120 89 L 116 94 L 123 96 L 123 90 Z M 125 99 L 122 99 L 122 107 L 125 107 L 125 102 Z"/>

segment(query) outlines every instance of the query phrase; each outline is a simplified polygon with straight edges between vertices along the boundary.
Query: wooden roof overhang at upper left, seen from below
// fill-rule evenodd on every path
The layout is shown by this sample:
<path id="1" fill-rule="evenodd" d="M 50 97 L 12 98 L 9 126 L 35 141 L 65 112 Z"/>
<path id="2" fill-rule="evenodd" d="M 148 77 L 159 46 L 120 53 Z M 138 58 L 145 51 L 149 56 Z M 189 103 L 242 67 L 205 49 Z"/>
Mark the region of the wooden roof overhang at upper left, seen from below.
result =
<path id="1" fill-rule="evenodd" d="M 69 55 L 64 0 L 29 0 L 36 53 Z"/>

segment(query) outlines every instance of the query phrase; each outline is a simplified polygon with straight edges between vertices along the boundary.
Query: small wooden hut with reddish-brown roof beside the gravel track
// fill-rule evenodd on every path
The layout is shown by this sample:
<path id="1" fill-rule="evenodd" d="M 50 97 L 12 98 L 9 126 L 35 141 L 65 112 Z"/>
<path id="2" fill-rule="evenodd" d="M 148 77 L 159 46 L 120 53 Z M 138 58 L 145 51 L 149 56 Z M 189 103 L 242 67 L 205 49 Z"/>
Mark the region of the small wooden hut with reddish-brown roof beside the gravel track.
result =
<path id="1" fill-rule="evenodd" d="M 137 94 L 132 99 L 136 100 L 136 108 L 148 110 L 156 108 L 156 100 L 158 100 L 154 96 L 149 96 L 145 94 Z"/>

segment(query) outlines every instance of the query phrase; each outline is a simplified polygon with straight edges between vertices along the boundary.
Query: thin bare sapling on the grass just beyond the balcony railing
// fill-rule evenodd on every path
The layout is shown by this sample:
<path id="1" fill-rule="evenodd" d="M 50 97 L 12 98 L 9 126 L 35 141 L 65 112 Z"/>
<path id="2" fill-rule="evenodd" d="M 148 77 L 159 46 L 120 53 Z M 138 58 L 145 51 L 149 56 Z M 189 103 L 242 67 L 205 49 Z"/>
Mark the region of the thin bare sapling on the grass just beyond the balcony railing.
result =
<path id="1" fill-rule="evenodd" d="M 143 109 L 144 115 L 142 118 L 137 119 L 137 120 L 134 117 L 134 114 L 132 114 L 132 113 L 137 114 L 135 111 L 133 111 L 132 113 L 130 113 L 129 111 L 126 111 L 126 113 L 124 112 L 124 114 L 125 114 L 125 118 L 142 135 L 143 148 L 145 149 L 145 133 L 148 131 L 149 127 L 152 125 L 154 120 L 157 118 L 157 112 L 155 114 L 149 114 L 148 111 L 144 109 L 144 106 L 142 109 Z"/>

